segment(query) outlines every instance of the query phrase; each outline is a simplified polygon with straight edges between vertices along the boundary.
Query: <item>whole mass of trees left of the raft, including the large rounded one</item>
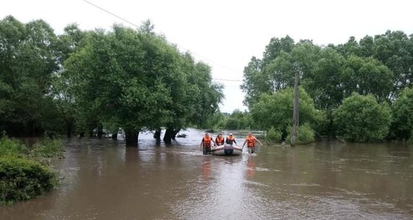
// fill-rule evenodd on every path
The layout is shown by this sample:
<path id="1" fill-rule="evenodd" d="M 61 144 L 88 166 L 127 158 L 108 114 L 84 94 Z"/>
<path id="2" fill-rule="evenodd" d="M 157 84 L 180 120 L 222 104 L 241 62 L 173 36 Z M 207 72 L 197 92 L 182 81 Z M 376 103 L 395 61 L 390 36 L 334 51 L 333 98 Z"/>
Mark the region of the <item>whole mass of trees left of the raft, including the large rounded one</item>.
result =
<path id="1" fill-rule="evenodd" d="M 0 131 L 10 136 L 103 135 L 167 128 L 169 142 L 202 126 L 223 97 L 211 67 L 180 52 L 149 21 L 138 30 L 56 35 L 43 20 L 0 20 Z"/>

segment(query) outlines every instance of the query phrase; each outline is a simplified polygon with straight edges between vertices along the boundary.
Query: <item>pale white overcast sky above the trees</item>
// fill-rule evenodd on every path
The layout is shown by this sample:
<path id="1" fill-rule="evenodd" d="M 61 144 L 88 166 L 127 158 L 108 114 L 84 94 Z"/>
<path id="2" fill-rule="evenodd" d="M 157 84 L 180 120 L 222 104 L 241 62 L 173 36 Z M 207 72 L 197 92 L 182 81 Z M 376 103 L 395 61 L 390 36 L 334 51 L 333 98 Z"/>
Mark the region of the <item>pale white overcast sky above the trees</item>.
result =
<path id="1" fill-rule="evenodd" d="M 262 57 L 271 37 L 312 39 L 318 45 L 345 43 L 366 35 L 402 30 L 413 34 L 413 1 L 389 0 L 89 0 L 140 25 L 150 19 L 155 31 L 209 63 L 213 78 L 225 85 L 221 111 L 244 110 L 242 80 L 252 56 Z M 114 23 L 131 26 L 83 0 L 3 0 L 0 18 L 12 15 L 26 23 L 43 19 L 61 34 L 65 25 L 78 23 L 83 30 Z"/>

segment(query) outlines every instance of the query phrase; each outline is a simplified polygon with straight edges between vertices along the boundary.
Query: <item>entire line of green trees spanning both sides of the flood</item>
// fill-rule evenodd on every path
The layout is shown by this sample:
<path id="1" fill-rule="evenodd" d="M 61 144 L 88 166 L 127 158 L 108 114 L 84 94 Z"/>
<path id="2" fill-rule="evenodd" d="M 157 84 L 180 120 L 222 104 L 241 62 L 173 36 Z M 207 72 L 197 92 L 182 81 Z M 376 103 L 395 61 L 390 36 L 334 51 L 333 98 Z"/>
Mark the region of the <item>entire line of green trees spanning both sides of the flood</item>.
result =
<path id="1" fill-rule="evenodd" d="M 412 140 L 413 36 L 401 31 L 326 46 L 273 38 L 244 69 L 248 112 L 224 114 L 211 67 L 154 33 L 149 21 L 138 30 L 71 24 L 56 35 L 45 21 L 11 16 L 0 21 L 0 131 L 116 137 L 121 130 L 136 144 L 142 130 L 166 128 L 170 142 L 198 126 L 260 129 L 288 140 L 296 72 L 308 140 Z"/>

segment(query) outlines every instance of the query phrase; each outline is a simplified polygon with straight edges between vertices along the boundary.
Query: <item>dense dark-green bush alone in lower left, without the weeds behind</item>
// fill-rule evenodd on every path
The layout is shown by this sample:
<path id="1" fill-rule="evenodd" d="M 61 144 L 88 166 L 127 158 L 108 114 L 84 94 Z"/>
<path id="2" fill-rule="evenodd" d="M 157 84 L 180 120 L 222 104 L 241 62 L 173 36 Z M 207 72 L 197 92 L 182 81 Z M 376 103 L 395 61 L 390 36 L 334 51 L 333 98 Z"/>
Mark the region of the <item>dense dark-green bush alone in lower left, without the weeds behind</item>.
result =
<path id="1" fill-rule="evenodd" d="M 56 174 L 39 162 L 16 157 L 0 158 L 0 203 L 36 197 L 56 184 Z"/>

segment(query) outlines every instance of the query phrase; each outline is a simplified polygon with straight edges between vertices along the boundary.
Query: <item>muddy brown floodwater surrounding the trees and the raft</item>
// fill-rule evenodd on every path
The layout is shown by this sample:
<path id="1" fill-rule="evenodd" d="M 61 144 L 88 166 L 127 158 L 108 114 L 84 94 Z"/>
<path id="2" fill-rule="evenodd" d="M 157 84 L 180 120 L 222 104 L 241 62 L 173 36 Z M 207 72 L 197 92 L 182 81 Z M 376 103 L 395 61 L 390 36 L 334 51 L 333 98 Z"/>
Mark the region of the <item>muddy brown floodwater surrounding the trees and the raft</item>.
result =
<path id="1" fill-rule="evenodd" d="M 202 131 L 166 146 L 65 140 L 62 186 L 0 219 L 413 219 L 413 147 L 321 142 L 202 155 Z M 215 137 L 215 135 L 213 135 Z M 242 143 L 244 135 L 237 135 Z M 245 150 L 245 149 L 244 149 Z"/>

